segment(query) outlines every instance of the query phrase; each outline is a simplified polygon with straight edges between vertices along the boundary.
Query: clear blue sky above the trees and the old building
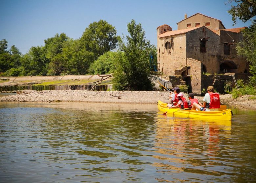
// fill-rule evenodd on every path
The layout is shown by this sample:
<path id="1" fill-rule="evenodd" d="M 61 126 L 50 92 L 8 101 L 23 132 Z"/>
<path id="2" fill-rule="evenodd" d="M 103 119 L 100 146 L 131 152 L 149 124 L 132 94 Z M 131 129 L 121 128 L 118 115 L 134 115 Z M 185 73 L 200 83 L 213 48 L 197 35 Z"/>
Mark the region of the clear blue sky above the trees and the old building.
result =
<path id="1" fill-rule="evenodd" d="M 156 44 L 156 28 L 163 24 L 177 30 L 177 22 L 195 13 L 219 19 L 228 28 L 249 26 L 233 22 L 228 0 L 0 0 L 0 40 L 6 39 L 25 54 L 32 46 L 43 46 L 56 33 L 78 39 L 92 22 L 106 20 L 126 36 L 127 23 L 141 23 L 146 38 Z"/>

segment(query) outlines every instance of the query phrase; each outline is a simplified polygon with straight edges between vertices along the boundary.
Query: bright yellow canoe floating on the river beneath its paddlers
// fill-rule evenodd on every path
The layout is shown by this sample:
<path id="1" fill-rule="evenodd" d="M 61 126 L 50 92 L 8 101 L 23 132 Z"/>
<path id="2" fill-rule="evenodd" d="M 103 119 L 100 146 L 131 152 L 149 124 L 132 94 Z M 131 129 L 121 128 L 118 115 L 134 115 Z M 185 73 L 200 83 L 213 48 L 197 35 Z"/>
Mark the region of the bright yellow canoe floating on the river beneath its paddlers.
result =
<path id="1" fill-rule="evenodd" d="M 231 109 L 214 111 L 214 112 L 206 112 L 206 111 L 179 109 L 179 108 L 168 108 L 166 105 L 167 105 L 166 103 L 159 100 L 157 105 L 158 110 L 161 112 L 167 112 L 167 114 L 170 114 L 173 116 L 186 117 L 186 118 L 188 117 L 201 118 L 201 119 L 209 119 L 209 120 L 231 120 L 231 117 L 232 117 Z"/>

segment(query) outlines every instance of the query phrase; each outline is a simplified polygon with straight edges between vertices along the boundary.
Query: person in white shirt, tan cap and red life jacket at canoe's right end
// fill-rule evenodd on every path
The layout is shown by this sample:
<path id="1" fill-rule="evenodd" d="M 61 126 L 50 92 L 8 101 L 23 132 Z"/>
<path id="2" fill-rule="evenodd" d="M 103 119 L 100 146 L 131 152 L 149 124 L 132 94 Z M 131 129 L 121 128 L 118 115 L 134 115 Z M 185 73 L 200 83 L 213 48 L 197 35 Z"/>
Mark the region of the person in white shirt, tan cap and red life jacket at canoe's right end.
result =
<path id="1" fill-rule="evenodd" d="M 208 93 L 206 93 L 203 98 L 203 107 L 194 103 L 191 108 L 192 110 L 219 111 L 220 95 L 218 93 L 214 93 L 213 86 L 208 86 L 207 91 Z"/>

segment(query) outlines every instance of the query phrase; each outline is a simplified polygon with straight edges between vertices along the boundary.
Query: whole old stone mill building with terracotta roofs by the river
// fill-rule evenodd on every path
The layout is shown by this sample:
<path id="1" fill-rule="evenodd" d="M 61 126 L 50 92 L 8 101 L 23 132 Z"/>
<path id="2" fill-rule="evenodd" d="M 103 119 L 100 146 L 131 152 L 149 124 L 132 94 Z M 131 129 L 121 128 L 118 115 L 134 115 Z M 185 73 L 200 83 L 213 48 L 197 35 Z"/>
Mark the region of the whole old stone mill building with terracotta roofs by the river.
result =
<path id="1" fill-rule="evenodd" d="M 194 93 L 202 91 L 206 73 L 248 73 L 246 58 L 235 50 L 245 27 L 226 29 L 220 20 L 200 13 L 188 18 L 185 14 L 177 25 L 178 30 L 166 24 L 157 27 L 158 71 L 182 76 Z"/>

